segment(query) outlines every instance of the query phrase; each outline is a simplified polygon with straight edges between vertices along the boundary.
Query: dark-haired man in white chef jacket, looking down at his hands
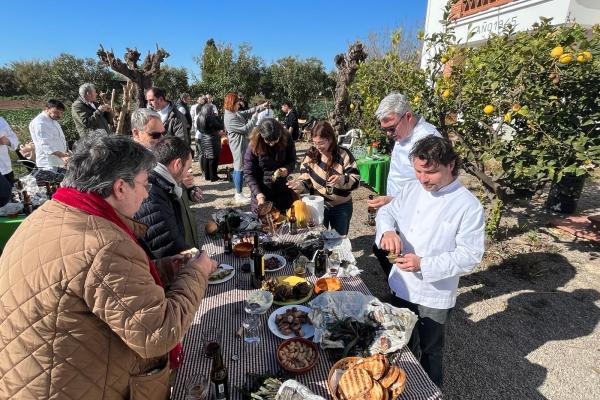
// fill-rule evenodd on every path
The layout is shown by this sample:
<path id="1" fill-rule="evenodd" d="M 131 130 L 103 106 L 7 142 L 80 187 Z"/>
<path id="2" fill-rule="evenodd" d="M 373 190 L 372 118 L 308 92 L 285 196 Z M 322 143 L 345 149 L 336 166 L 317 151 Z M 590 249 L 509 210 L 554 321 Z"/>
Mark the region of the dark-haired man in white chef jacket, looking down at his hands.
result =
<path id="1" fill-rule="evenodd" d="M 484 212 L 457 179 L 459 160 L 448 139 L 419 140 L 409 159 L 417 180 L 402 185 L 379 210 L 375 240 L 397 255 L 388 277 L 392 304 L 419 316 L 409 346 L 441 387 L 444 326 L 459 277 L 483 256 Z"/>

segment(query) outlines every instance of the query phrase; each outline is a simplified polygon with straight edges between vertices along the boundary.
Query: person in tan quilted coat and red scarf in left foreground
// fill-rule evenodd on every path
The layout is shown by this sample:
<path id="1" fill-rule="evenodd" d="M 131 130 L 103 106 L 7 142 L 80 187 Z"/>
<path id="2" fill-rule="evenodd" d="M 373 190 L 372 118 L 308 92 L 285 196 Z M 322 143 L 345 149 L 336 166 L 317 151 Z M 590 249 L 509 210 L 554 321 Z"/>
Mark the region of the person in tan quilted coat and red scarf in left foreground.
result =
<path id="1" fill-rule="evenodd" d="M 62 188 L 0 258 L 0 398 L 165 399 L 216 263 L 154 263 L 131 219 L 154 156 L 122 136 L 78 143 Z"/>

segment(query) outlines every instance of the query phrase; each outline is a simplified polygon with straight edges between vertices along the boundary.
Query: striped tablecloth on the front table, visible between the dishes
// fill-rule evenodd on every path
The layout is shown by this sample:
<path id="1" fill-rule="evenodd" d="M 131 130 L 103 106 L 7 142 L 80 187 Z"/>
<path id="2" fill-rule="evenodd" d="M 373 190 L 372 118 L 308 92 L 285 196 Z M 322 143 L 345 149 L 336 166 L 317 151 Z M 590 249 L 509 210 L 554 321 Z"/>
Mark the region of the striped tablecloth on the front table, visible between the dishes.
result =
<path id="1" fill-rule="evenodd" d="M 302 233 L 302 231 L 300 231 Z M 285 235 L 284 240 L 294 241 L 298 236 Z M 179 368 L 177 379 L 173 388 L 172 399 L 184 400 L 186 397 L 185 383 L 189 377 L 197 374 L 208 376 L 211 368 L 211 359 L 203 354 L 203 330 L 216 327 L 221 330 L 221 348 L 223 359 L 229 371 L 229 385 L 232 399 L 240 399 L 241 394 L 237 388 L 247 382 L 248 374 L 263 374 L 280 370 L 276 359 L 276 350 L 279 339 L 271 333 L 267 326 L 267 319 L 271 312 L 279 306 L 273 305 L 266 314 L 259 316 L 261 327 L 259 329 L 259 343 L 245 343 L 235 336 L 236 330 L 247 317 L 244 312 L 244 300 L 253 290 L 251 287 L 251 274 L 244 273 L 240 267 L 248 258 L 238 258 L 234 255 L 223 253 L 222 241 L 205 239 L 202 249 L 213 255 L 219 263 L 232 265 L 235 275 L 227 282 L 209 285 L 202 304 L 194 322 L 183 341 L 184 361 Z M 359 266 L 360 267 L 360 266 Z M 292 275 L 290 263 L 285 268 L 268 273 L 270 275 Z M 314 284 L 315 277 L 307 279 Z M 367 286 L 359 277 L 341 278 L 342 290 L 356 290 L 371 294 Z M 441 392 L 429 379 L 425 371 L 413 354 L 404 347 L 396 359 L 396 364 L 406 370 L 407 383 L 400 399 L 440 399 Z M 306 374 L 298 375 L 294 379 L 309 387 L 314 393 L 325 398 L 331 398 L 327 390 L 327 375 L 333 365 L 326 352 L 321 351 L 319 361 L 314 369 Z"/>

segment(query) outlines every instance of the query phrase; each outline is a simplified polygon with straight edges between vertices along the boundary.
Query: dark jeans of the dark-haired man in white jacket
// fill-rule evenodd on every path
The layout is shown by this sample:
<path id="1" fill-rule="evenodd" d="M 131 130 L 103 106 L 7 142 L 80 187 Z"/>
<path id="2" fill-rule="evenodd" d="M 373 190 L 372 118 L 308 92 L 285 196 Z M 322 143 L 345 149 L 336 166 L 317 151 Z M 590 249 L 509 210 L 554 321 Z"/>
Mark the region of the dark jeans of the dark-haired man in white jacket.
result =
<path id="1" fill-rule="evenodd" d="M 394 293 L 392 293 L 394 294 Z M 415 355 L 429 378 L 439 388 L 443 385 L 443 358 L 445 324 L 449 310 L 425 307 L 411 303 L 395 295 L 392 296 L 394 307 L 408 308 L 419 317 L 408 342 L 408 348 Z"/>

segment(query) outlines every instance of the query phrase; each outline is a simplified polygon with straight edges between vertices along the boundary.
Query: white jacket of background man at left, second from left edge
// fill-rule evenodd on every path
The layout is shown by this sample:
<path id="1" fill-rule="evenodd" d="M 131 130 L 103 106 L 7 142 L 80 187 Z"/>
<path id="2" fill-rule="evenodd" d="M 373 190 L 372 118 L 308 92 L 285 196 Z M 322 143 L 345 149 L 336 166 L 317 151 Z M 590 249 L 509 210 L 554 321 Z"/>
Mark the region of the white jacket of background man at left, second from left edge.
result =
<path id="1" fill-rule="evenodd" d="M 67 152 L 67 141 L 58 121 L 42 111 L 29 123 L 29 133 L 35 145 L 35 164 L 38 168 L 64 166 L 64 161 L 52 154 L 55 151 Z"/>

